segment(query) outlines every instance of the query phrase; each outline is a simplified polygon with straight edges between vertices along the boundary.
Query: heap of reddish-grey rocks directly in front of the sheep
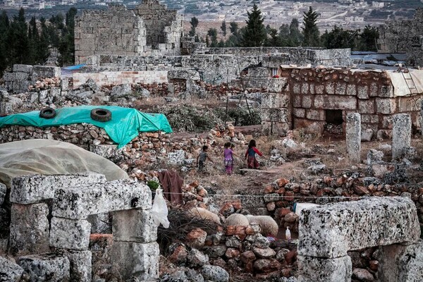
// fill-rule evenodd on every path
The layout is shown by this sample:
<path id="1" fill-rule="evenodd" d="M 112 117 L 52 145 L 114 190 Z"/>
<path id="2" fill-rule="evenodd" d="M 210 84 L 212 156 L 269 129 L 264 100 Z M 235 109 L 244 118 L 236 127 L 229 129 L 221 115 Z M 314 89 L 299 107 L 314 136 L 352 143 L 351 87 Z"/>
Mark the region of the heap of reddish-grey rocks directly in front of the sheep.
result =
<path id="1" fill-rule="evenodd" d="M 201 272 L 204 265 L 212 264 L 232 273 L 270 278 L 292 276 L 296 267 L 295 245 L 272 243 L 260 234 L 257 224 L 226 226 L 210 235 L 197 228 L 188 233 L 185 244 L 173 244 L 168 251 L 171 263 Z"/>

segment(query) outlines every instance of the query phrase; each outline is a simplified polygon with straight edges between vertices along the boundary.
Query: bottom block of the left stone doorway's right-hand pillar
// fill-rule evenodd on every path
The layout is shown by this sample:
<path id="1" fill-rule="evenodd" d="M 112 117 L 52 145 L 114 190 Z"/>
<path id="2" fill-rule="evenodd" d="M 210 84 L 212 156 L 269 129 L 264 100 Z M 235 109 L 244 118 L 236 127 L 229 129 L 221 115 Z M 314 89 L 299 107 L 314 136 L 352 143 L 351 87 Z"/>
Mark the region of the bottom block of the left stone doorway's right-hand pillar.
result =
<path id="1" fill-rule="evenodd" d="M 122 279 L 139 281 L 159 278 L 159 244 L 114 241 L 111 247 L 112 264 Z"/>

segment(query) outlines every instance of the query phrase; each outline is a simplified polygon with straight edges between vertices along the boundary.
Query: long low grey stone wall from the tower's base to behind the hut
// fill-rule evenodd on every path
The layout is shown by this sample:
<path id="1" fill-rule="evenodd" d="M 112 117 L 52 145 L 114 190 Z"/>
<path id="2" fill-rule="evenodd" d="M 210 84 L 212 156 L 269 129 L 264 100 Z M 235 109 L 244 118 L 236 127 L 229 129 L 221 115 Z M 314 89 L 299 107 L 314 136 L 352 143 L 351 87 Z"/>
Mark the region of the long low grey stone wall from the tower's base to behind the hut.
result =
<path id="1" fill-rule="evenodd" d="M 255 66 L 268 68 L 268 73 L 262 77 L 265 81 L 271 76 L 271 69 L 276 70 L 281 65 L 350 66 L 351 64 L 350 49 L 252 47 L 207 50 L 211 51 L 190 56 L 91 56 L 87 59 L 89 66 L 82 68 L 81 72 L 188 70 L 200 73 L 200 80 L 206 83 L 219 85 L 240 78 L 243 71 Z M 245 82 L 250 76 L 247 75 Z"/>

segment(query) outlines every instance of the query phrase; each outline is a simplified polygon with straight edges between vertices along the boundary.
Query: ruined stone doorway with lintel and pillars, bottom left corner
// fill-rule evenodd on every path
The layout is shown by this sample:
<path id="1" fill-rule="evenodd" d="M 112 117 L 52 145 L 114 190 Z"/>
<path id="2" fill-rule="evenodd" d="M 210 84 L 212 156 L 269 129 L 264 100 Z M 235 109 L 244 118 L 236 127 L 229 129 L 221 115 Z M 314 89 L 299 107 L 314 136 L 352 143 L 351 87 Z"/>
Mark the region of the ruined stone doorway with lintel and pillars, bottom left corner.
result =
<path id="1" fill-rule="evenodd" d="M 157 226 L 147 185 L 107 182 L 87 173 L 21 176 L 13 178 L 10 189 L 9 252 L 19 257 L 19 266 L 10 266 L 17 269 L 9 273 L 15 275 L 11 281 L 23 273 L 30 281 L 92 281 L 90 221 L 109 212 L 114 216 L 110 263 L 121 278 L 158 278 Z"/>

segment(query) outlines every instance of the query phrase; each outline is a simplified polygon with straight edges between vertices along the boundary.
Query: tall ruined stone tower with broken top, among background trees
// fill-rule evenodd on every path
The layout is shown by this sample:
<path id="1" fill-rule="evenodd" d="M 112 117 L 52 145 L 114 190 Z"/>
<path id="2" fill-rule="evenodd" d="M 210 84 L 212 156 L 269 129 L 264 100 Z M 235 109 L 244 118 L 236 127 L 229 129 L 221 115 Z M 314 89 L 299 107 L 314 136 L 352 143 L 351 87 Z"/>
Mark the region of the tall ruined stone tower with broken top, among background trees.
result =
<path id="1" fill-rule="evenodd" d="M 75 63 L 97 54 L 180 55 L 182 19 L 158 0 L 142 0 L 133 10 L 112 5 L 105 11 L 83 11 L 75 19 Z"/>

